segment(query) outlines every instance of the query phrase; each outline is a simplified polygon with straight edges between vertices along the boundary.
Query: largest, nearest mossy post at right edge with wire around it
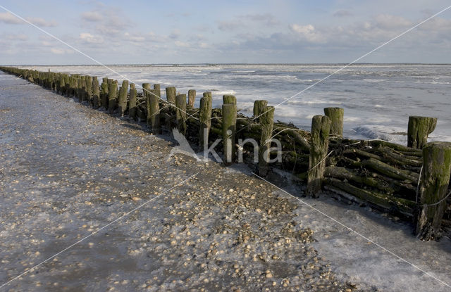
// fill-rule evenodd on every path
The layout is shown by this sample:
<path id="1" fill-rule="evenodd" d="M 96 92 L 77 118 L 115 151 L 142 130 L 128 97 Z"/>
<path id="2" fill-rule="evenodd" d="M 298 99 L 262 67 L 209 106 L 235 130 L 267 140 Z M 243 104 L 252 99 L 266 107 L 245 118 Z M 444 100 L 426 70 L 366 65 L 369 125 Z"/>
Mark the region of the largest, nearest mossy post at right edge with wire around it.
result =
<path id="1" fill-rule="evenodd" d="M 440 224 L 447 208 L 451 174 L 451 143 L 431 142 L 423 147 L 416 235 L 421 240 L 440 238 Z"/>

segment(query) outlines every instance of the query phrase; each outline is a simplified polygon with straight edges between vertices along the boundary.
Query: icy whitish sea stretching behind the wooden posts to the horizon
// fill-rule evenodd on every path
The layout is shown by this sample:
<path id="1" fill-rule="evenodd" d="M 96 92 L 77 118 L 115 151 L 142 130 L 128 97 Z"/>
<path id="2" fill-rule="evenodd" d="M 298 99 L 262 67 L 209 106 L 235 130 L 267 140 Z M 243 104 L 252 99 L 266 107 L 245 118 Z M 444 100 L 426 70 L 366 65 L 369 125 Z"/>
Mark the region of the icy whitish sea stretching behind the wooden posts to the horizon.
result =
<path id="1" fill-rule="evenodd" d="M 118 82 L 175 86 L 180 93 L 211 91 L 237 98 L 240 113 L 265 99 L 275 119 L 309 130 L 323 108 L 345 109 L 344 136 L 407 144 L 409 115 L 438 118 L 429 141 L 451 141 L 451 65 L 435 64 L 158 64 L 23 66 L 52 72 L 109 77 Z M 332 75 L 331 75 L 332 74 Z M 329 76 L 330 75 L 330 76 Z"/>

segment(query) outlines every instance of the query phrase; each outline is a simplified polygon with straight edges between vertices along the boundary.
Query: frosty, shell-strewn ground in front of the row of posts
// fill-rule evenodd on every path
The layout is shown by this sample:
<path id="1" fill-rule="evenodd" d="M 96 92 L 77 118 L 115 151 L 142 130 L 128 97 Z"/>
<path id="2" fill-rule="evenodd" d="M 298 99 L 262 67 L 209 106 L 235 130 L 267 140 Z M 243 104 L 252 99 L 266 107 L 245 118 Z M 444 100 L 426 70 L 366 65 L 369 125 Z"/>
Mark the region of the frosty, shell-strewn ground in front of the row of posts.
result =
<path id="1" fill-rule="evenodd" d="M 154 198 L 0 290 L 446 291 L 244 167 L 166 162 L 168 137 L 3 74 L 0 123 L 0 285 Z M 448 239 L 302 200 L 451 282 Z"/>

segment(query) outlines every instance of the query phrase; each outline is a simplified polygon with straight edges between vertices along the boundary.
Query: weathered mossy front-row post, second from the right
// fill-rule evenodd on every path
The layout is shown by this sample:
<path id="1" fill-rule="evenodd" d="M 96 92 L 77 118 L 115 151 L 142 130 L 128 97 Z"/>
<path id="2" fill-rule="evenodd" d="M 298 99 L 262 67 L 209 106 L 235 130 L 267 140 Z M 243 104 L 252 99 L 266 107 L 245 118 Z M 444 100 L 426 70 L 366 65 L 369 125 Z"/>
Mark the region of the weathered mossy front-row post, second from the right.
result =
<path id="1" fill-rule="evenodd" d="M 329 133 L 330 119 L 326 115 L 315 115 L 311 120 L 311 146 L 307 172 L 307 193 L 313 198 L 318 198 L 321 191 Z"/>

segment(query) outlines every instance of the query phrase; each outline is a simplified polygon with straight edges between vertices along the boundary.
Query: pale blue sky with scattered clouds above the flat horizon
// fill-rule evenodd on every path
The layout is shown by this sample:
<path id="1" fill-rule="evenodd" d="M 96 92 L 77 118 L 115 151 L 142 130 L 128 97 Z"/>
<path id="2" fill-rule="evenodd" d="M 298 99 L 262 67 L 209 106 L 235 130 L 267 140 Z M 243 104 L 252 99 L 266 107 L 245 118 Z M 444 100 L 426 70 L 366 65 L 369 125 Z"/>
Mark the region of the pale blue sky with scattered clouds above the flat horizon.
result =
<path id="1" fill-rule="evenodd" d="M 442 0 L 20 1 L 1 6 L 106 64 L 349 63 Z M 451 9 L 361 62 L 451 63 Z M 0 64 L 92 64 L 0 8 Z"/>

